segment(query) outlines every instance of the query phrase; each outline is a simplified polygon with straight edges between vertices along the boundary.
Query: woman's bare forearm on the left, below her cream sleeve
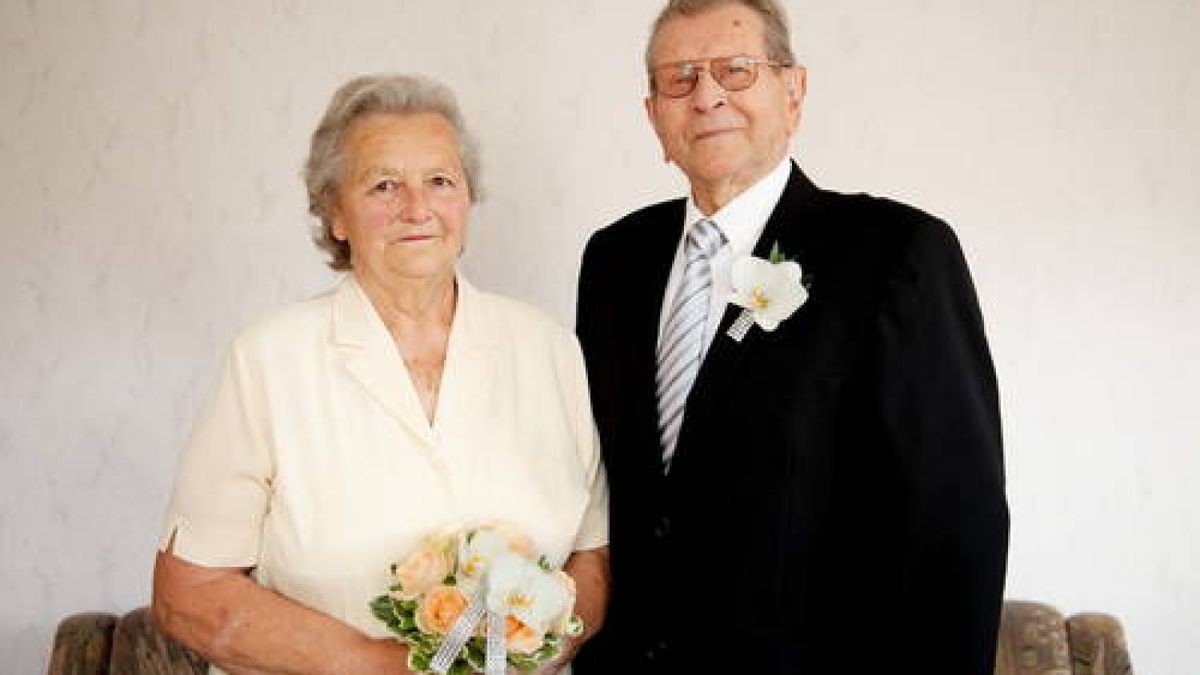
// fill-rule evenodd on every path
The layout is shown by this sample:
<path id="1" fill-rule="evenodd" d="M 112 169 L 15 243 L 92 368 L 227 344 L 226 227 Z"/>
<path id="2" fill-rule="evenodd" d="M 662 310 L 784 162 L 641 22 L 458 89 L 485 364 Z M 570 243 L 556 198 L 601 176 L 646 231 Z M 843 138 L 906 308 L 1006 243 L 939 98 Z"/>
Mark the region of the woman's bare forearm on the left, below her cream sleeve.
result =
<path id="1" fill-rule="evenodd" d="M 155 561 L 155 621 L 233 675 L 408 673 L 406 649 L 256 584 L 169 552 Z"/>

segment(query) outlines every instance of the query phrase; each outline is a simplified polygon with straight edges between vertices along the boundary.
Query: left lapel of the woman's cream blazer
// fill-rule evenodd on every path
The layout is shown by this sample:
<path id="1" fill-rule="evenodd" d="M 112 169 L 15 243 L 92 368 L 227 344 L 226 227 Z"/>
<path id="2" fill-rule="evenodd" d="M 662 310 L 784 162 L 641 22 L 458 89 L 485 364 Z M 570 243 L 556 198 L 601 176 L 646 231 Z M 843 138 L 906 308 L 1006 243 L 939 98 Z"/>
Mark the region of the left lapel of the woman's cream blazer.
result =
<path id="1" fill-rule="evenodd" d="M 334 295 L 332 341 L 346 370 L 402 428 L 428 447 L 433 432 L 416 398 L 404 360 L 353 275 Z"/>

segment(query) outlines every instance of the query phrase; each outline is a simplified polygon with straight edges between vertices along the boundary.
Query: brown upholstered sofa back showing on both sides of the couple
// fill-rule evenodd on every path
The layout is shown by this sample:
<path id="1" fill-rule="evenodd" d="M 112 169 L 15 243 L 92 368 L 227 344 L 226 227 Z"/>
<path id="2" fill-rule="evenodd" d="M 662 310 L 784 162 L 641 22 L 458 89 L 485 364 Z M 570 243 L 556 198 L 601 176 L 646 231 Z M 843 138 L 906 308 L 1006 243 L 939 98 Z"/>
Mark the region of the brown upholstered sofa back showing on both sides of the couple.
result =
<path id="1" fill-rule="evenodd" d="M 203 675 L 204 659 L 167 638 L 146 608 L 86 613 L 59 623 L 48 675 Z M 1050 605 L 1009 601 L 996 675 L 1132 675 L 1121 623 L 1106 614 L 1063 619 Z"/>

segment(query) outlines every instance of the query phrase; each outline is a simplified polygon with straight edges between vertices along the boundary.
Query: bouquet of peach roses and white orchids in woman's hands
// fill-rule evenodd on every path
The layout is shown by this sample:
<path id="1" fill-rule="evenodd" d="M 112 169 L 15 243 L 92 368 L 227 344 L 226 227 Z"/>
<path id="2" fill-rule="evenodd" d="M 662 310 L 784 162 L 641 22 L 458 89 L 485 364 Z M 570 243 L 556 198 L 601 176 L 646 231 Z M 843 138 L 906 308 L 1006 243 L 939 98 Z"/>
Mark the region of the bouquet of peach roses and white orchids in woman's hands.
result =
<path id="1" fill-rule="evenodd" d="M 533 671 L 583 632 L 575 581 L 504 525 L 427 537 L 391 575 L 371 610 L 409 646 L 419 673 Z"/>

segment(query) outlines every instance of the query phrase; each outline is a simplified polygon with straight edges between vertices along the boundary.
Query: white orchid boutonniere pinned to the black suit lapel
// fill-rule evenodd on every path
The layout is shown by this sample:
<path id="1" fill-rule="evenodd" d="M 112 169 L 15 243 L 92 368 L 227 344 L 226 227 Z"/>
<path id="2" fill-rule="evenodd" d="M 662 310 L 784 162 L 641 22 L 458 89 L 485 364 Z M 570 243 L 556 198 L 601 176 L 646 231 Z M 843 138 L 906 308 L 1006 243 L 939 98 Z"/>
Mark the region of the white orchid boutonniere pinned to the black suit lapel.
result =
<path id="1" fill-rule="evenodd" d="M 727 335 L 738 342 L 756 323 L 763 330 L 774 330 L 809 299 L 800 282 L 800 264 L 788 261 L 779 243 L 770 247 L 770 259 L 744 256 L 733 261 L 732 275 L 730 301 L 744 309 Z"/>

